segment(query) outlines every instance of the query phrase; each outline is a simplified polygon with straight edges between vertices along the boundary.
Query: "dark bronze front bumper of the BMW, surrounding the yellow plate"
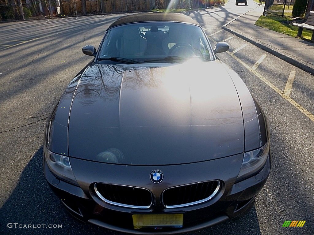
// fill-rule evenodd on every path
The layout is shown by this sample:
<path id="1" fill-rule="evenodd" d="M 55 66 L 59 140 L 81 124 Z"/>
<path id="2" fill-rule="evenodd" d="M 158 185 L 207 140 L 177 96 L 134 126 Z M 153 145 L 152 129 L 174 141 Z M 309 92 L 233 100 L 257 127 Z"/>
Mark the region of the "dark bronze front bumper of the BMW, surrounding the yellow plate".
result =
<path id="1" fill-rule="evenodd" d="M 234 156 L 233 156 L 234 157 Z M 239 157 L 241 159 L 241 157 Z M 79 165 L 80 161 L 75 159 L 71 162 L 71 165 L 74 166 L 73 169 L 78 170 L 77 166 Z M 227 158 L 224 159 L 217 159 L 212 160 L 217 161 L 218 163 L 222 161 L 228 161 Z M 95 171 L 95 167 L 97 163 L 84 161 L 85 171 L 89 169 L 88 172 L 95 172 L 95 177 L 99 175 L 99 172 Z M 99 163 L 98 163 L 99 165 Z M 107 164 L 108 165 L 108 164 Z M 187 164 L 191 165 L 191 164 Z M 202 163 L 204 165 L 204 163 Z M 231 171 L 232 164 L 230 169 L 226 169 L 222 173 L 226 174 L 227 171 Z M 237 165 L 236 162 L 233 162 L 233 167 Z M 115 166 L 111 165 L 110 168 L 114 168 Z M 122 166 L 118 166 L 122 167 Z M 123 166 L 126 168 L 126 166 Z M 130 169 L 135 166 L 128 166 Z M 146 166 L 145 166 L 146 167 Z M 101 227 L 105 227 L 108 229 L 120 231 L 120 232 L 127 232 L 133 234 L 172 234 L 172 233 L 179 233 L 179 232 L 189 232 L 192 230 L 202 229 L 204 227 L 213 226 L 220 222 L 223 222 L 228 219 L 233 219 L 238 217 L 251 209 L 254 205 L 255 197 L 257 193 L 262 189 L 266 180 L 268 178 L 269 172 L 271 167 L 271 157 L 270 153 L 268 155 L 268 160 L 263 167 L 263 169 L 258 172 L 256 175 L 235 183 L 236 177 L 230 178 L 230 175 L 225 179 L 222 180 L 224 182 L 224 186 L 221 188 L 219 193 L 217 193 L 214 198 L 209 200 L 208 202 L 195 205 L 188 208 L 177 208 L 177 209 L 162 209 L 160 206 L 156 205 L 154 208 L 149 210 L 138 210 L 138 209 L 130 209 L 130 208 L 121 208 L 117 206 L 107 205 L 100 199 L 96 198 L 96 196 L 91 191 L 90 182 L 97 182 L 93 177 L 86 180 L 87 182 L 83 182 L 84 174 L 78 175 L 73 170 L 74 175 L 78 175 L 77 180 L 81 187 L 77 187 L 75 185 L 71 185 L 67 182 L 64 182 L 60 179 L 57 179 L 49 170 L 45 159 L 44 159 L 44 175 L 46 180 L 51 187 L 51 189 L 55 192 L 55 194 L 60 198 L 62 204 L 66 208 L 66 210 L 76 219 L 82 222 L 90 222 L 92 224 L 96 224 Z M 164 167 L 166 169 L 166 167 Z M 181 166 L 182 168 L 182 166 Z M 228 168 L 228 167 L 227 167 Z M 150 171 L 151 167 L 149 167 Z M 213 174 L 218 174 L 214 170 L 213 167 Z M 82 169 L 81 169 L 82 170 Z M 115 170 L 114 170 L 115 171 Z M 167 170 L 164 170 L 167 172 Z M 164 172 L 164 173 L 165 173 Z M 106 173 L 104 171 L 103 173 Z M 197 172 L 192 172 L 194 175 L 197 175 Z M 86 173 L 87 174 L 87 173 Z M 126 175 L 128 173 L 126 172 Z M 204 175 L 204 172 L 202 173 Z M 232 174 L 232 172 L 230 173 Z M 89 174 L 90 175 L 90 174 Z M 206 175 L 206 174 L 205 174 Z M 211 175 L 207 175 L 207 177 L 211 177 Z M 114 175 L 116 180 L 120 178 L 118 175 Z M 218 179 L 221 179 L 219 177 Z M 108 179 L 110 181 L 110 179 Z M 89 181 L 89 182 L 88 182 Z M 119 181 L 119 180 L 117 180 Z M 136 181 L 133 179 L 131 182 Z M 165 181 L 165 180 L 164 180 Z M 106 181 L 98 181 L 98 182 L 106 182 Z M 126 182 L 132 185 L 131 182 Z M 164 182 L 167 185 L 167 182 Z M 145 185 L 145 184 L 144 184 Z M 150 184 L 152 185 L 152 184 Z M 178 183 L 180 185 L 180 182 Z M 134 186 L 134 185 L 133 185 Z M 145 185 L 148 186 L 148 185 Z M 156 186 L 156 185 L 153 185 Z M 148 187 L 147 187 L 148 188 Z M 149 189 L 151 191 L 156 191 L 156 189 Z M 158 200 L 158 198 L 156 198 Z M 133 220 L 132 214 L 133 213 L 147 213 L 147 212 L 158 212 L 158 213 L 167 213 L 167 212 L 179 212 L 184 213 L 183 217 L 183 227 L 182 228 L 162 228 L 158 230 L 159 232 L 154 232 L 156 230 L 151 228 L 142 228 L 142 229 L 134 229 L 133 228 Z"/>

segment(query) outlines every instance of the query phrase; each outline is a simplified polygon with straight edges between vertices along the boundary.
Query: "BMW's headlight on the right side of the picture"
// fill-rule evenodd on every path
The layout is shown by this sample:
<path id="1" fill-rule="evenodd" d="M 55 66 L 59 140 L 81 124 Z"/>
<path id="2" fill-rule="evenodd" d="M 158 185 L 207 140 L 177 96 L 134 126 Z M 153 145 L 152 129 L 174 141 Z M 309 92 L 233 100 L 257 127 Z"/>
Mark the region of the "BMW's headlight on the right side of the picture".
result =
<path id="1" fill-rule="evenodd" d="M 248 178 L 259 170 L 262 170 L 266 163 L 269 152 L 269 140 L 259 149 L 244 153 L 240 173 L 236 181 Z"/>

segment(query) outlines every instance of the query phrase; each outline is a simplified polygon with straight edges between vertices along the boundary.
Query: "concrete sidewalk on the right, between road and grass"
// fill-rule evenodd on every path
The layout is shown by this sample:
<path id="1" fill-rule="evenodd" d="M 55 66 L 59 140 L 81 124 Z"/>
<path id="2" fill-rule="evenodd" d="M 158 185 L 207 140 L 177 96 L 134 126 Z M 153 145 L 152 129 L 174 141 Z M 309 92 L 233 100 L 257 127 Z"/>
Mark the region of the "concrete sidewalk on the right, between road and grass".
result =
<path id="1" fill-rule="evenodd" d="M 263 9 L 264 5 L 257 7 L 225 25 L 223 29 L 314 74 L 314 43 L 254 25 L 257 19 L 263 15 Z"/>

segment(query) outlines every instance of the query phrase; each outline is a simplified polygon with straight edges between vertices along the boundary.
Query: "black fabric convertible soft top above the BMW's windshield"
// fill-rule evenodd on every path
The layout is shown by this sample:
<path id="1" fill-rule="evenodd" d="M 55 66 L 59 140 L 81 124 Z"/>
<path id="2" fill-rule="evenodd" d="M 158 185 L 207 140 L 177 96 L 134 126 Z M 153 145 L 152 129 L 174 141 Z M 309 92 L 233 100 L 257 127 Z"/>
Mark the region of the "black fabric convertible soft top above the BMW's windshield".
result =
<path id="1" fill-rule="evenodd" d="M 198 26 L 201 26 L 195 20 L 193 20 L 192 18 L 186 15 L 176 14 L 176 13 L 147 12 L 147 13 L 139 13 L 139 14 L 123 16 L 117 19 L 115 22 L 113 22 L 109 26 L 109 28 L 112 28 L 114 26 L 121 25 L 121 24 L 130 24 L 130 23 L 147 22 L 147 21 L 173 21 L 173 22 L 196 24 Z"/>

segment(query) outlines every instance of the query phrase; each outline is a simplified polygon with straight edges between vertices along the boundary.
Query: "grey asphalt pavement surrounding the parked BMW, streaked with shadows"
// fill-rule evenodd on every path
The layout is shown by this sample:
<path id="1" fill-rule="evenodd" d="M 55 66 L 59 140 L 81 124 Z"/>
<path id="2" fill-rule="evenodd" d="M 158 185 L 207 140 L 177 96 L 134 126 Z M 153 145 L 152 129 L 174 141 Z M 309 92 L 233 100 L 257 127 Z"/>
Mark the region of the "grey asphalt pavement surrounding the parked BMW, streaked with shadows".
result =
<path id="1" fill-rule="evenodd" d="M 229 53 L 219 55 L 220 59 L 242 77 L 263 107 L 271 134 L 271 174 L 246 216 L 189 234 L 314 233 L 314 122 L 294 105 L 314 113 L 314 76 L 219 31 L 255 7 L 252 0 L 237 7 L 231 0 L 224 7 L 190 16 L 203 25 L 212 45 L 222 40 L 230 44 Z M 81 48 L 97 47 L 106 28 L 121 16 L 0 24 L 0 234 L 120 234 L 68 216 L 44 179 L 42 142 L 48 114 L 91 59 Z M 286 83 L 288 77 L 291 81 L 291 71 L 295 72 L 290 87 L 294 104 L 278 93 L 289 93 Z M 306 223 L 286 228 L 282 227 L 285 220 Z M 8 223 L 62 224 L 62 228 L 8 228 Z"/>

